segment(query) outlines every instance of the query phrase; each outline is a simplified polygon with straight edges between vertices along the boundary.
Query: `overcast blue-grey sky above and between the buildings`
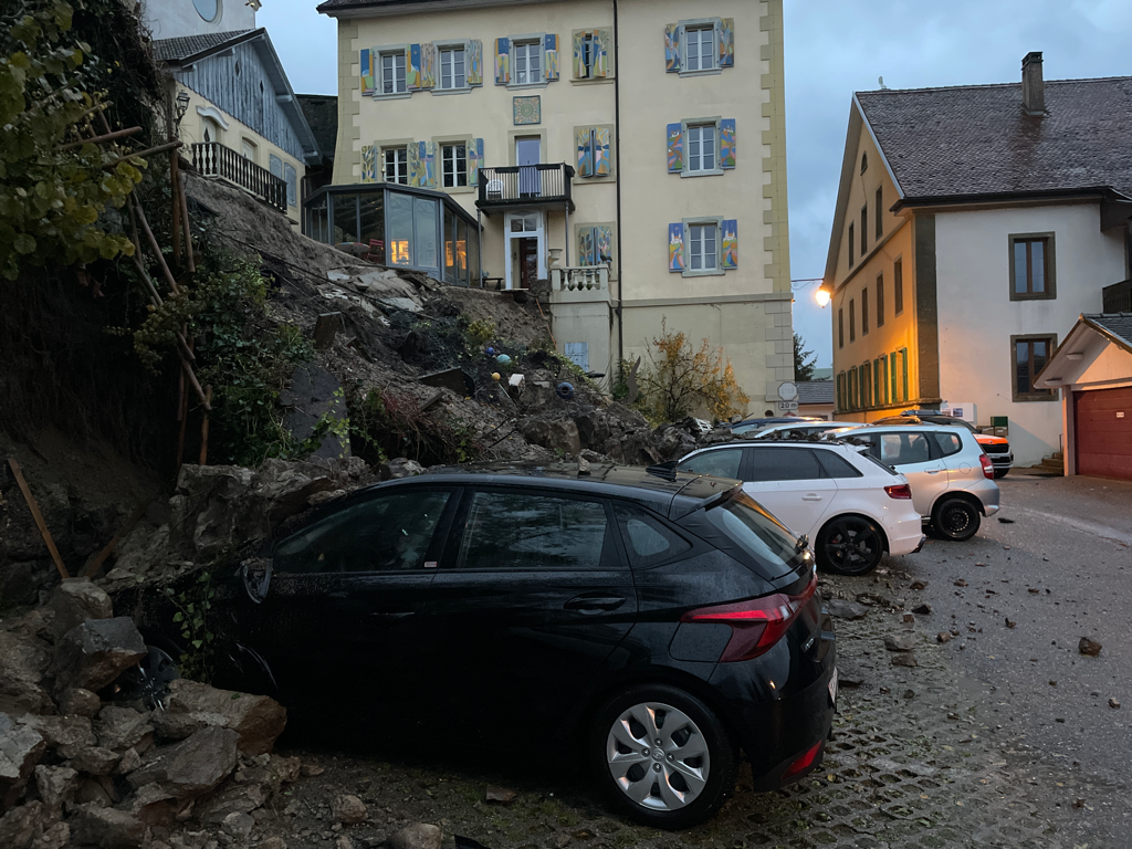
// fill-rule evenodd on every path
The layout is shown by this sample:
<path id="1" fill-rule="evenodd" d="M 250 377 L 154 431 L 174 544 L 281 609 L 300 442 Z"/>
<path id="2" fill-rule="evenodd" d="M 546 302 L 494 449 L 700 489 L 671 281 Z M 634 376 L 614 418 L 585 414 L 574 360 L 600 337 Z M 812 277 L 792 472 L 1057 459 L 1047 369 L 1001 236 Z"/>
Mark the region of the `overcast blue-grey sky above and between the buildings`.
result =
<path id="1" fill-rule="evenodd" d="M 238 0 L 235 0 L 238 1 Z M 1132 0 L 784 0 L 791 277 L 825 271 L 852 93 L 1012 83 L 1044 53 L 1046 79 L 1132 76 Z M 336 94 L 337 38 L 312 0 L 264 0 L 257 16 L 303 94 Z M 832 365 L 816 284 L 795 298 L 795 329 Z"/>

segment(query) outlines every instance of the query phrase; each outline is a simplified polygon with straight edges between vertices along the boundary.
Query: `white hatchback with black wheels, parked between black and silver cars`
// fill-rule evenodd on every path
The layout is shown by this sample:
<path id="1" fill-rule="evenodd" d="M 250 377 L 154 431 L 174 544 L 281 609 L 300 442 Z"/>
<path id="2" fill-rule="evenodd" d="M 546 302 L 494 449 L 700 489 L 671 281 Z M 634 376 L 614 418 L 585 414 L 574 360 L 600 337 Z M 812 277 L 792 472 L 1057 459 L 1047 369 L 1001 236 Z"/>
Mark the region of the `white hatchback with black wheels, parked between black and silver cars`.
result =
<path id="1" fill-rule="evenodd" d="M 744 490 L 799 537 L 817 563 L 861 575 L 884 556 L 919 551 L 920 514 L 908 479 L 839 443 L 727 443 L 692 452 L 676 465 L 743 481 Z"/>

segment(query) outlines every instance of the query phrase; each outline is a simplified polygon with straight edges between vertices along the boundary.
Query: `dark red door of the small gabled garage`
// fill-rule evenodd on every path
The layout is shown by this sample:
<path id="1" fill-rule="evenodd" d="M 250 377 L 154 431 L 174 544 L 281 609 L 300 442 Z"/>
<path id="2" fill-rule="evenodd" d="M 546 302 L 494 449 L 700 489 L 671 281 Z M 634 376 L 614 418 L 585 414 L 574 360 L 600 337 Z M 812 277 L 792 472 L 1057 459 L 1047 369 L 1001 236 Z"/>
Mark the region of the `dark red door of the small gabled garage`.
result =
<path id="1" fill-rule="evenodd" d="M 1077 473 L 1132 480 L 1132 386 L 1074 396 Z"/>

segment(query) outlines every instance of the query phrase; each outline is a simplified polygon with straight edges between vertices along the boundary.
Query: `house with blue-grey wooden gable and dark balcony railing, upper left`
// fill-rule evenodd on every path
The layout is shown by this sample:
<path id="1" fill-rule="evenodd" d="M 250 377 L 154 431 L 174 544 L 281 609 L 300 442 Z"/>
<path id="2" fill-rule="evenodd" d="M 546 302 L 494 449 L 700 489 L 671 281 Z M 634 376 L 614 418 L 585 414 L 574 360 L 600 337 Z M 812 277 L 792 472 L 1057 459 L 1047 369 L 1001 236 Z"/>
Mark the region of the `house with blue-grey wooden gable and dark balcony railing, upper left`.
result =
<path id="1" fill-rule="evenodd" d="M 144 5 L 154 57 L 172 75 L 182 156 L 238 186 L 298 228 L 302 178 L 320 161 L 315 136 L 267 32 L 258 2 L 162 0 Z"/>

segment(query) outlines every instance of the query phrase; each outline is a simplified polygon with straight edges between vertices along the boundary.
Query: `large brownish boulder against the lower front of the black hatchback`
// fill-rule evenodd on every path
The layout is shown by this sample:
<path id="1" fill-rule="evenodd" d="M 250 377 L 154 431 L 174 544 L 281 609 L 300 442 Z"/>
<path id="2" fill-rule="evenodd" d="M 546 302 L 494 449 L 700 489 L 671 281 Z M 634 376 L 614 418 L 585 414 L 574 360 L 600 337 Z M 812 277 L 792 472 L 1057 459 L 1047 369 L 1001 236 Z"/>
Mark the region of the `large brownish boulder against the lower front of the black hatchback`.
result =
<path id="1" fill-rule="evenodd" d="M 187 678 L 171 681 L 169 693 L 163 720 L 230 728 L 240 735 L 245 755 L 271 752 L 286 726 L 286 709 L 268 696 L 216 689 Z"/>

